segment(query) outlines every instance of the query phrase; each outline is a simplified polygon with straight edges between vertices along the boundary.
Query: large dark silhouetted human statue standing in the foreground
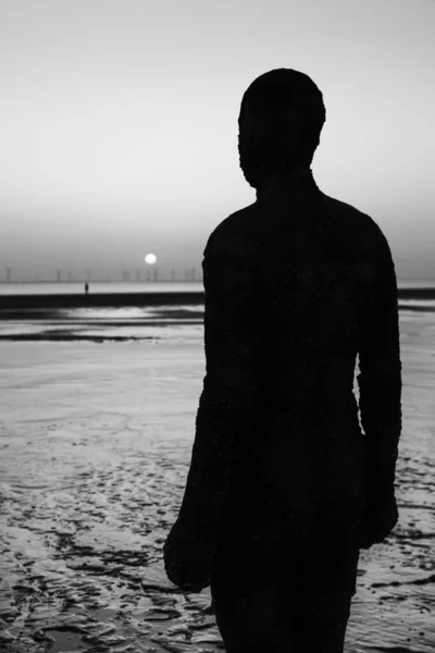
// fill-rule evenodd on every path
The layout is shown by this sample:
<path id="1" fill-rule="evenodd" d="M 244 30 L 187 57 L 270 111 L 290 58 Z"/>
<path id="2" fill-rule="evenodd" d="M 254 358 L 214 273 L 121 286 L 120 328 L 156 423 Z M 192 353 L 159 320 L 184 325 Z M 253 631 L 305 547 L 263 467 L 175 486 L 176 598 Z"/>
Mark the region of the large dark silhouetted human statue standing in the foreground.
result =
<path id="1" fill-rule="evenodd" d="M 227 653 L 341 653 L 360 550 L 398 520 L 395 266 L 376 222 L 313 180 L 324 121 L 306 74 L 252 82 L 238 147 L 257 199 L 203 252 L 207 373 L 163 557 L 181 589 L 210 586 Z"/>

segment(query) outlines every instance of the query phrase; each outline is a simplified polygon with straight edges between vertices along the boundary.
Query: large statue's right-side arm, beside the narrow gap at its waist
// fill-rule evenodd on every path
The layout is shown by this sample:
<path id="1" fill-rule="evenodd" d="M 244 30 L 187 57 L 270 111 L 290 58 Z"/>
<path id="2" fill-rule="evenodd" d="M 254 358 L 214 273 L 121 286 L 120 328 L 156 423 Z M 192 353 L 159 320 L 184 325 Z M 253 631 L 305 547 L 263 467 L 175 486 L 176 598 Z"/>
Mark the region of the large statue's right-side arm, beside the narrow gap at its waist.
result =
<path id="1" fill-rule="evenodd" d="M 373 268 L 360 315 L 358 383 L 366 444 L 368 520 L 372 520 L 374 542 L 388 534 L 398 517 L 395 473 L 402 386 L 397 279 L 387 239 L 377 225 Z"/>

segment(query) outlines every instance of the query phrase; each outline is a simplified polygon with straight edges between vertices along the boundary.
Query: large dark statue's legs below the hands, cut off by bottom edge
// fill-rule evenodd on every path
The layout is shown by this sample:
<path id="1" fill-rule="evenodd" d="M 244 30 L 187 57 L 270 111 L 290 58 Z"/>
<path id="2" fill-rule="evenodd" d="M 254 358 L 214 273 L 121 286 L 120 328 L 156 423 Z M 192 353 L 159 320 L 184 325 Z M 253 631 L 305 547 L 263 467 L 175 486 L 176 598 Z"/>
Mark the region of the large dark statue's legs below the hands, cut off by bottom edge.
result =
<path id="1" fill-rule="evenodd" d="M 316 541 L 271 560 L 269 577 L 253 559 L 217 565 L 211 593 L 226 653 L 343 653 L 358 558 Z"/>

